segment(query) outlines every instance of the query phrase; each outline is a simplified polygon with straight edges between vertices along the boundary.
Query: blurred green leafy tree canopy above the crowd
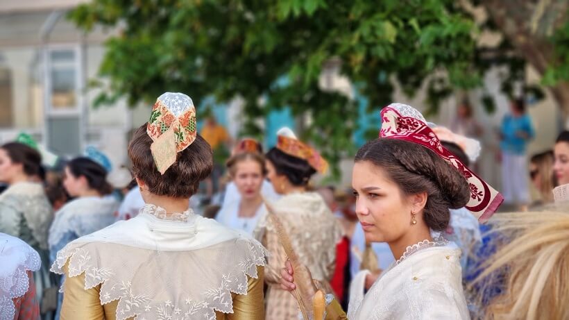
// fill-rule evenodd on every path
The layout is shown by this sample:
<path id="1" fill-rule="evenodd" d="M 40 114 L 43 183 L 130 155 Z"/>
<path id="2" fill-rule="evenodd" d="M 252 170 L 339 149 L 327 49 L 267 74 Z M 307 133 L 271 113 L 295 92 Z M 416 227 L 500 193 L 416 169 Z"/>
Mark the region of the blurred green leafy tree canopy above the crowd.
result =
<path id="1" fill-rule="evenodd" d="M 244 133 L 257 136 L 256 119 L 289 106 L 312 119 L 300 135 L 332 164 L 353 155 L 359 117 L 353 101 L 319 86 L 332 62 L 366 96 L 367 112 L 391 102 L 393 80 L 409 95 L 426 83 L 425 103 L 435 111 L 452 90 L 481 85 L 491 65 L 523 65 L 506 53 L 484 59 L 477 37 L 486 26 L 454 0 L 94 0 L 70 17 L 86 31 L 119 29 L 106 42 L 100 74 L 110 87 L 98 104 L 120 96 L 151 103 L 164 91 L 198 103 L 239 95 Z"/>

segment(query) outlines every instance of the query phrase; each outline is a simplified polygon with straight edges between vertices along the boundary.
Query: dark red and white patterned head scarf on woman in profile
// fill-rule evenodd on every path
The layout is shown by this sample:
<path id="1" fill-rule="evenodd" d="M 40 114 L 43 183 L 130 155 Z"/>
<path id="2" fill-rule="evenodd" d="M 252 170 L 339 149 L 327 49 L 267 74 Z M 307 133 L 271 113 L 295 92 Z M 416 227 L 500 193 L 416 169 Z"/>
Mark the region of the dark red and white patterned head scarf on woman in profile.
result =
<path id="1" fill-rule="evenodd" d="M 466 204 L 466 208 L 473 212 L 481 222 L 487 221 L 494 214 L 504 201 L 502 194 L 470 171 L 455 155 L 441 145 L 439 137 L 429 128 L 421 112 L 402 103 L 391 103 L 383 108 L 381 115 L 380 137 L 414 142 L 434 151 L 457 168 L 468 181 L 470 201 Z"/>

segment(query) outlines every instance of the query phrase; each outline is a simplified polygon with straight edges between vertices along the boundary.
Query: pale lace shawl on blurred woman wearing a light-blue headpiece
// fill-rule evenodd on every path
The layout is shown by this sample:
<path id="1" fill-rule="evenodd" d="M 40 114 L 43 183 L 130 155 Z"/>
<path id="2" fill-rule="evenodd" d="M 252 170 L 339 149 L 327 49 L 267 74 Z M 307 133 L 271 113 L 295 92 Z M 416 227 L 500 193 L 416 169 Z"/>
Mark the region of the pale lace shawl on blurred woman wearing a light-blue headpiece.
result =
<path id="1" fill-rule="evenodd" d="M 49 248 L 56 246 L 67 232 L 80 237 L 110 226 L 118 208 L 119 203 L 112 196 L 90 196 L 67 203 L 56 212 L 49 228 Z"/>

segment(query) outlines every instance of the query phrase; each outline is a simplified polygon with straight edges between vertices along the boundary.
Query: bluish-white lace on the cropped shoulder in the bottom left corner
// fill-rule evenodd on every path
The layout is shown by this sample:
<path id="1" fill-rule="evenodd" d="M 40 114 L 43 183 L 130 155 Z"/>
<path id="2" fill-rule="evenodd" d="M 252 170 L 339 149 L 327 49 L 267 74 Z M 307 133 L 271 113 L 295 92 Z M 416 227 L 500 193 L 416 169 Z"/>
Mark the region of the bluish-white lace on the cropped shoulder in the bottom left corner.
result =
<path id="1" fill-rule="evenodd" d="M 6 243 L 0 244 L 0 253 L 5 249 Z M 19 247 L 17 250 L 22 250 L 22 247 Z M 8 257 L 1 256 L 1 258 Z M 28 292 L 30 279 L 27 271 L 37 271 L 40 269 L 41 264 L 40 255 L 28 247 L 25 260 L 18 264 L 15 272 L 10 272 L 10 274 L 0 272 L 0 310 L 3 313 L 0 315 L 0 319 L 14 318 L 16 307 L 12 299 L 19 298 Z M 7 317 L 5 318 L 4 316 Z"/>

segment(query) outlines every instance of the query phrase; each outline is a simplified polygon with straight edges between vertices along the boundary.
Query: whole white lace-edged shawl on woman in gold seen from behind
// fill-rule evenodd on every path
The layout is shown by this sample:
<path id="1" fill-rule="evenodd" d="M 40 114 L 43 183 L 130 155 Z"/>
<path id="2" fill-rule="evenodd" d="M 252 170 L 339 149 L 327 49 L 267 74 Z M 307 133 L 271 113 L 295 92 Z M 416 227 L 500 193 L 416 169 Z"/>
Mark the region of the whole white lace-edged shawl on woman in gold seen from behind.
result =
<path id="1" fill-rule="evenodd" d="M 192 210 L 172 217 L 145 205 L 68 244 L 51 271 L 69 263 L 67 276 L 85 273 L 85 289 L 101 285 L 101 305 L 119 300 L 118 320 L 213 320 L 214 310 L 233 312 L 231 293 L 247 294 L 247 276 L 257 278 L 265 255 L 255 239 Z"/>

